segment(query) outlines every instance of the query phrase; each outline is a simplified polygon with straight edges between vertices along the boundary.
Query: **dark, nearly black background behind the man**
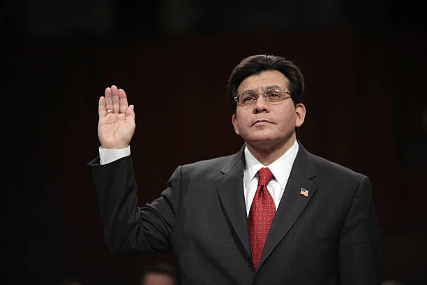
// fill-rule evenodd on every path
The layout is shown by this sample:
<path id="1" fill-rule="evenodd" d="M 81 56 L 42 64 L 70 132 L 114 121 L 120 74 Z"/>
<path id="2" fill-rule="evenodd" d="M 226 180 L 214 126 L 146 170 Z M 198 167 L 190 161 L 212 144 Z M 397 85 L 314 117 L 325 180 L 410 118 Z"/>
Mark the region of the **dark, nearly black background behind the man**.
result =
<path id="1" fill-rule="evenodd" d="M 425 282 L 426 27 L 414 2 L 31 0 L 2 3 L 0 18 L 15 279 L 137 284 L 142 265 L 174 263 L 105 246 L 86 166 L 98 155 L 98 98 L 114 84 L 135 105 L 147 203 L 179 164 L 241 147 L 227 78 L 248 55 L 276 54 L 305 76 L 299 140 L 373 182 L 384 279 Z"/>

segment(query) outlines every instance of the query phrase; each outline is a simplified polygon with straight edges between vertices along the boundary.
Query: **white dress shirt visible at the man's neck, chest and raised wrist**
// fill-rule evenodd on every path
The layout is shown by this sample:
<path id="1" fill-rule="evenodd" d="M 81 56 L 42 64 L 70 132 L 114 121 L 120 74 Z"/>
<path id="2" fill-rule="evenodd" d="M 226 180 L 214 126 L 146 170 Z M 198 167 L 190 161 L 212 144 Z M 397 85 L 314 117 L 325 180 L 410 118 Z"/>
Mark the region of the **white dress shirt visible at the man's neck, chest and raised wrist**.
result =
<path id="1" fill-rule="evenodd" d="M 249 216 L 250 205 L 252 205 L 253 197 L 258 187 L 258 175 L 257 172 L 263 167 L 268 167 L 273 173 L 274 178 L 269 182 L 267 190 L 271 197 L 273 197 L 274 205 L 277 207 L 282 198 L 283 192 L 285 191 L 287 179 L 289 178 L 292 165 L 294 164 L 295 157 L 298 153 L 298 142 L 295 140 L 294 145 L 287 149 L 287 152 L 280 156 L 276 161 L 271 163 L 269 166 L 263 166 L 260 161 L 249 152 L 248 147 L 244 149 L 246 166 L 244 169 L 244 196 L 246 203 L 246 214 Z M 99 158 L 100 164 L 107 164 L 117 159 L 121 159 L 124 156 L 130 155 L 130 146 L 124 149 L 105 149 L 99 147 Z"/>

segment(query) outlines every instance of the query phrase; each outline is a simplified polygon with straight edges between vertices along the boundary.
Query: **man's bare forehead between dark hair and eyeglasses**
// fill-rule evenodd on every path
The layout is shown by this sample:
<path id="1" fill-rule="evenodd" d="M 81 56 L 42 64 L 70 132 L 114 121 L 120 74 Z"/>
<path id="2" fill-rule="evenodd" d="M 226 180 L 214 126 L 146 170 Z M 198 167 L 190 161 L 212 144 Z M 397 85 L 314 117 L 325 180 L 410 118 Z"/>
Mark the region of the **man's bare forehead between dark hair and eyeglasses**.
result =
<path id="1" fill-rule="evenodd" d="M 245 78 L 237 87 L 237 92 L 244 92 L 245 90 L 262 90 L 264 87 L 278 85 L 279 87 L 287 90 L 289 87 L 289 80 L 280 71 L 262 71 L 262 73 L 250 75 Z"/>

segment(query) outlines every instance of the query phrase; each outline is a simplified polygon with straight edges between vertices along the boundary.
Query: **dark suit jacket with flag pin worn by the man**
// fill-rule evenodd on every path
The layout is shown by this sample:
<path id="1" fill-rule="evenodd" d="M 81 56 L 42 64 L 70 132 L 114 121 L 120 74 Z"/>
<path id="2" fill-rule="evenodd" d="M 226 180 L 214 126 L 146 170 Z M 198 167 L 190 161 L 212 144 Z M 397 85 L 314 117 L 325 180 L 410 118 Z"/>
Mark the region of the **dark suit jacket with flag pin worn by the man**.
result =
<path id="1" fill-rule="evenodd" d="M 177 256 L 183 284 L 380 284 L 379 227 L 368 177 L 299 143 L 257 272 L 237 154 L 179 166 L 160 198 L 138 207 L 130 156 L 89 163 L 114 252 Z M 301 195 L 301 187 L 308 197 Z"/>

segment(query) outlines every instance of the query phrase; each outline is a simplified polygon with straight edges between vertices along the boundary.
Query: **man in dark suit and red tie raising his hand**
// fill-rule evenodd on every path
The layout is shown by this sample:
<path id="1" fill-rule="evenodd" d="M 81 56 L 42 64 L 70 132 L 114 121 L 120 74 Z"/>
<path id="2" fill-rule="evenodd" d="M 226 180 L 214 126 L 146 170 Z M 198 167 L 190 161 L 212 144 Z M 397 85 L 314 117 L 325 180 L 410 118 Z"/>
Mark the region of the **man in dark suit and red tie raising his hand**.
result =
<path id="1" fill-rule="evenodd" d="M 99 100 L 100 158 L 89 163 L 112 251 L 174 250 L 183 284 L 380 284 L 368 177 L 297 141 L 304 81 L 283 57 L 255 55 L 229 79 L 237 154 L 179 166 L 138 207 L 129 143 L 133 105 Z M 119 150 L 117 150 L 119 149 Z"/>

